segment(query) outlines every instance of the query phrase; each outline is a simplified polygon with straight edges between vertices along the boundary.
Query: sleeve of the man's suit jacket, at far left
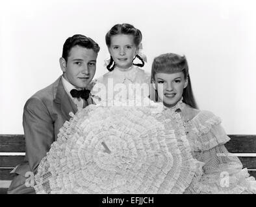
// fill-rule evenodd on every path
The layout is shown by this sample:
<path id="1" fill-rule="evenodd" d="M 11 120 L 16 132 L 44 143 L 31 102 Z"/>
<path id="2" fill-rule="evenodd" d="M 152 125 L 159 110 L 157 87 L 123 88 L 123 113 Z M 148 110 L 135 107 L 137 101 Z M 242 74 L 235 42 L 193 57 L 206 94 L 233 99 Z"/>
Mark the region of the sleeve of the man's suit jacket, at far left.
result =
<path id="1" fill-rule="evenodd" d="M 53 120 L 39 98 L 30 98 L 23 111 L 26 157 L 33 172 L 54 142 Z"/>

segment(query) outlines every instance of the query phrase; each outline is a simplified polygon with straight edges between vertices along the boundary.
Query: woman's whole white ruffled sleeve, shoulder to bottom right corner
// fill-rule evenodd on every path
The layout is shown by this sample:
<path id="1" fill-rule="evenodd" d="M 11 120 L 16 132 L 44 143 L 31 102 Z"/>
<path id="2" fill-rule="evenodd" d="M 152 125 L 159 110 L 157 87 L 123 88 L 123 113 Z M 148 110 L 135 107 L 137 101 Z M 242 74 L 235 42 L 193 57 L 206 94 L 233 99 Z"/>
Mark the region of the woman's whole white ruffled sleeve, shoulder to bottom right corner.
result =
<path id="1" fill-rule="evenodd" d="M 194 157 L 205 165 L 202 177 L 190 186 L 190 190 L 198 193 L 256 193 L 255 179 L 246 168 L 242 169 L 239 158 L 225 148 L 224 144 L 230 138 L 220 123 L 220 118 L 208 111 L 202 111 L 193 120 L 194 144 L 198 144 L 194 147 Z"/>

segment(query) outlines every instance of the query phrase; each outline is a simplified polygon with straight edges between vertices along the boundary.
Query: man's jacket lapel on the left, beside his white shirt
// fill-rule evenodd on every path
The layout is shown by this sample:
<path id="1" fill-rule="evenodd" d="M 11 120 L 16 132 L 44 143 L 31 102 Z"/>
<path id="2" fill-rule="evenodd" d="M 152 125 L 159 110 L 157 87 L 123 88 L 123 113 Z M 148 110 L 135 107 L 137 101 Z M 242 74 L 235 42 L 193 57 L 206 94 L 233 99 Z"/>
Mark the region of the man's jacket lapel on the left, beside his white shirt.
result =
<path id="1" fill-rule="evenodd" d="M 53 94 L 55 94 L 55 102 L 60 104 L 62 114 L 64 114 L 66 120 L 70 120 L 70 112 L 76 113 L 77 106 L 71 100 L 70 96 L 66 93 L 64 85 L 62 84 L 61 76 L 58 78 L 55 87 L 53 87 Z"/>

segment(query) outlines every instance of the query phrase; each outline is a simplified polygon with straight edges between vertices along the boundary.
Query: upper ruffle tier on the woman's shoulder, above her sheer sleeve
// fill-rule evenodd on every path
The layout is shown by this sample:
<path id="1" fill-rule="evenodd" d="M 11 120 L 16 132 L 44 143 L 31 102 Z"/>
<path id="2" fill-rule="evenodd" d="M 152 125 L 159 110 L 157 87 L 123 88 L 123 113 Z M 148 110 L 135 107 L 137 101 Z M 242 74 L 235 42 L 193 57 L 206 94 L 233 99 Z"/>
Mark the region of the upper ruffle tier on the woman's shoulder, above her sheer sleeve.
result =
<path id="1" fill-rule="evenodd" d="M 210 111 L 201 111 L 191 121 L 192 124 L 192 149 L 194 151 L 205 151 L 230 140 L 226 135 L 221 119 Z"/>

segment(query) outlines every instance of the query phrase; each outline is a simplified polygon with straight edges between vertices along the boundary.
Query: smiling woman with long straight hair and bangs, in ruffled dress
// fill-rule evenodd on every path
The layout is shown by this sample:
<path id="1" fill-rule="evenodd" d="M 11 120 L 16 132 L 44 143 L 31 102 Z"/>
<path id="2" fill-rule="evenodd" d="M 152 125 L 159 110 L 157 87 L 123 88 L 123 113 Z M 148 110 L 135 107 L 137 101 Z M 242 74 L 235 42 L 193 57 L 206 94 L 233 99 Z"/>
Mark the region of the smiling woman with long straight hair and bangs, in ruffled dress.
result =
<path id="1" fill-rule="evenodd" d="M 185 56 L 168 53 L 155 58 L 151 81 L 166 113 L 180 114 L 192 156 L 205 163 L 203 175 L 198 175 L 185 193 L 256 193 L 255 179 L 224 146 L 230 138 L 220 118 L 198 109 Z"/>

